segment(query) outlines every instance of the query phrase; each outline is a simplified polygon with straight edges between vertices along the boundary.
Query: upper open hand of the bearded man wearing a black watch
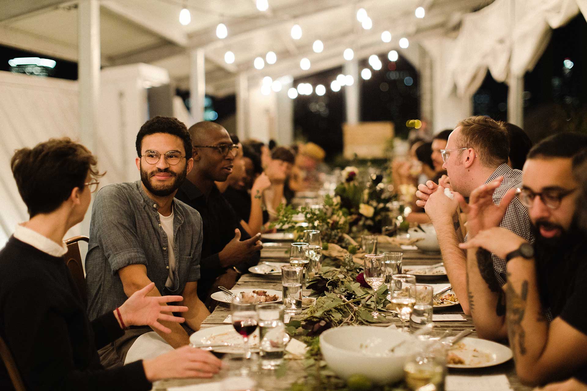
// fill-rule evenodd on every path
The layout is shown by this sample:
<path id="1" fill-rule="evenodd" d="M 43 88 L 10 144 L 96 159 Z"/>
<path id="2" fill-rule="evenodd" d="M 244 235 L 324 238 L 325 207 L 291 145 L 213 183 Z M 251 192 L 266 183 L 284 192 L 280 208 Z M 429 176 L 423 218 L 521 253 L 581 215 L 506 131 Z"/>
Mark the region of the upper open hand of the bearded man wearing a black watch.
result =
<path id="1" fill-rule="evenodd" d="M 510 205 L 516 193 L 516 189 L 508 190 L 502 197 L 500 205 L 495 205 L 492 196 L 503 180 L 504 177 L 500 176 L 493 182 L 479 186 L 471 192 L 468 204 L 463 196 L 455 193 L 455 199 L 460 203 L 461 210 L 467 213 L 469 237 L 475 236 L 481 230 L 500 225 L 501 220 L 504 218 L 505 210 L 508 209 L 508 205 Z"/>

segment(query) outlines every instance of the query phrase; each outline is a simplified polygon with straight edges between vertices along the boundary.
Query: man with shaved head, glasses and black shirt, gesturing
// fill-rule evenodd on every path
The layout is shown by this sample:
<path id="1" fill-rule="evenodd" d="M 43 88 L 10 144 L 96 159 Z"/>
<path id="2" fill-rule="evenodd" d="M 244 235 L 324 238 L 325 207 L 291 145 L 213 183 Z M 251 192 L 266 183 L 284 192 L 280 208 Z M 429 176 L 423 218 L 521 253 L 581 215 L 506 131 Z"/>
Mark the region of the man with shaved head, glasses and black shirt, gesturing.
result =
<path id="1" fill-rule="evenodd" d="M 226 181 L 232 172 L 238 147 L 232 144 L 228 132 L 208 121 L 194 124 L 188 131 L 194 145 L 194 168 L 176 198 L 198 210 L 203 220 L 198 296 L 212 310 L 216 303 L 210 295 L 218 286 L 232 288 L 240 274 L 258 263 L 261 235 L 249 236 L 247 223 L 237 217 L 214 183 Z"/>

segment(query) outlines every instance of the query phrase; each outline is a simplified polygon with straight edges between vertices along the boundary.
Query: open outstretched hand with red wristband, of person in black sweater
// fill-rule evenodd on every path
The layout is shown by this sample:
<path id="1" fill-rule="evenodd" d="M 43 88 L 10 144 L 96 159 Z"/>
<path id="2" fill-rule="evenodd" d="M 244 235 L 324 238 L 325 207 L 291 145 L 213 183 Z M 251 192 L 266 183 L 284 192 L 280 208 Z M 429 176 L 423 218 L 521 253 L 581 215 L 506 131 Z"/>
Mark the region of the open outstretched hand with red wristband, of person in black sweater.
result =
<path id="1" fill-rule="evenodd" d="M 181 296 L 147 296 L 154 287 L 155 283 L 150 283 L 133 293 L 119 307 L 120 317 L 126 326 L 148 325 L 169 334 L 171 330 L 158 321 L 181 323 L 185 319 L 161 312 L 185 312 L 188 308 L 184 305 L 164 305 L 168 302 L 182 301 L 183 297 Z"/>

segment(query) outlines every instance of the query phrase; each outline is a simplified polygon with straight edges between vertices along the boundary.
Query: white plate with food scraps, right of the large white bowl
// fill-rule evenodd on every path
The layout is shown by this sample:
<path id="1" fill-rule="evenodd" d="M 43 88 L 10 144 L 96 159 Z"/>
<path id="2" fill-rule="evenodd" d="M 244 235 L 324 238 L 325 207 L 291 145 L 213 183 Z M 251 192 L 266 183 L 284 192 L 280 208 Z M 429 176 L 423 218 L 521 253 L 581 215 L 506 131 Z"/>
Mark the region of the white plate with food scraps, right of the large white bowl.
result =
<path id="1" fill-rule="evenodd" d="M 485 368 L 504 363 L 512 358 L 512 351 L 505 345 L 487 339 L 466 337 L 448 351 L 465 361 L 464 364 L 449 364 L 448 368 Z"/>

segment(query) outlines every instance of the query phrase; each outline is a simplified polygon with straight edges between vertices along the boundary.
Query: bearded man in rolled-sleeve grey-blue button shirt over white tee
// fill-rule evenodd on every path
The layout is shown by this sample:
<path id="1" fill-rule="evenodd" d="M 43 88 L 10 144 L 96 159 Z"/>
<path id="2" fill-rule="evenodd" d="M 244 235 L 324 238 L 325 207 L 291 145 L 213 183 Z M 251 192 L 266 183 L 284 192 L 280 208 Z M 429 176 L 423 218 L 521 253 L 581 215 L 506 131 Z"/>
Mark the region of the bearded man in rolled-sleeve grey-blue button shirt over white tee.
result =
<path id="1" fill-rule="evenodd" d="M 170 334 L 127 329 L 100 349 L 107 368 L 123 365 L 130 349 L 150 346 L 143 356 L 149 357 L 189 344 L 188 333 L 210 314 L 197 295 L 202 219 L 174 199 L 194 164 L 190 134 L 177 118 L 153 117 L 140 128 L 136 149 L 140 181 L 104 186 L 93 204 L 86 257 L 88 314 L 95 319 L 151 282 L 150 295 L 183 295 L 182 305 L 189 310 L 183 325 L 167 325 Z"/>

